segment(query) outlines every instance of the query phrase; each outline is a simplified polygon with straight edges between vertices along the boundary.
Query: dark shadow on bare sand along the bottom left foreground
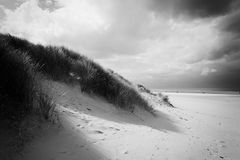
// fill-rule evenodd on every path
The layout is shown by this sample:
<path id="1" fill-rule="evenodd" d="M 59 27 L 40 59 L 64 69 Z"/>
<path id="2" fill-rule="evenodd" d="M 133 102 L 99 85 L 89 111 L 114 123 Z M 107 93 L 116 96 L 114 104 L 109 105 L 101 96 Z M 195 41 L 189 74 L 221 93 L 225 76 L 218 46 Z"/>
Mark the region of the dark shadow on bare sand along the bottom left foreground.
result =
<path id="1" fill-rule="evenodd" d="M 65 122 L 67 123 L 67 122 Z M 27 143 L 21 155 L 14 160 L 101 160 L 101 153 L 81 132 L 52 124 L 42 126 L 35 138 Z"/>

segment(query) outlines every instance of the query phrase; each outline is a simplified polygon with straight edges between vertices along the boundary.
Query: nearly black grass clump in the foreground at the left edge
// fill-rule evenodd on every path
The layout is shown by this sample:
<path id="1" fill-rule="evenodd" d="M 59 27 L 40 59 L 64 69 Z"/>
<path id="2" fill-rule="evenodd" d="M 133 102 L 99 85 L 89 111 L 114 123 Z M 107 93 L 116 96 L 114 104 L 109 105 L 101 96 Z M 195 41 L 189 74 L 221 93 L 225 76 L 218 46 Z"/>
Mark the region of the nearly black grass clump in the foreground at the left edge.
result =
<path id="1" fill-rule="evenodd" d="M 20 124 L 33 111 L 46 117 L 53 105 L 46 105 L 50 98 L 42 98 L 37 72 L 41 66 L 27 51 L 9 45 L 8 37 L 0 36 L 0 119 Z"/>

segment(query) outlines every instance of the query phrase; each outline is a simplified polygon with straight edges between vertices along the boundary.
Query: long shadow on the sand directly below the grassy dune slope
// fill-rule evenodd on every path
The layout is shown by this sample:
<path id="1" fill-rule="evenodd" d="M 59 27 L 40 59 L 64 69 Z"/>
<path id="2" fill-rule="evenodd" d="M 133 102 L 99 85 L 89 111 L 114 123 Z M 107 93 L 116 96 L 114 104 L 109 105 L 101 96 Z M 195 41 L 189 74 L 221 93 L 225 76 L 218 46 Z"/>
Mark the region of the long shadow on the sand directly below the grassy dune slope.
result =
<path id="1" fill-rule="evenodd" d="M 85 113 L 117 123 L 148 126 L 164 132 L 181 132 L 170 115 L 158 110 L 155 116 L 138 107 L 136 107 L 134 113 L 130 113 L 99 97 L 83 94 L 79 86 L 48 82 L 48 88 L 50 88 L 49 93 L 52 92 L 50 94 L 53 95 L 57 104 L 76 110 L 79 113 Z"/>

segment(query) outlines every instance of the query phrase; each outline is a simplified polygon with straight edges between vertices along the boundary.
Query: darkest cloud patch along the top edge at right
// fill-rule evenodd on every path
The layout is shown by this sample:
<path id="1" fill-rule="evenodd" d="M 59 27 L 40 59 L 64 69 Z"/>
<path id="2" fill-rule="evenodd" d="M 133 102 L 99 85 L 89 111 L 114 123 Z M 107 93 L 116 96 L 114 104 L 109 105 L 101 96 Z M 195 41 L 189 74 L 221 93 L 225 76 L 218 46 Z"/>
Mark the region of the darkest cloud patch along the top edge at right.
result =
<path id="1" fill-rule="evenodd" d="M 151 0 L 151 9 L 170 15 L 192 18 L 216 17 L 228 14 L 238 6 L 237 0 Z"/>

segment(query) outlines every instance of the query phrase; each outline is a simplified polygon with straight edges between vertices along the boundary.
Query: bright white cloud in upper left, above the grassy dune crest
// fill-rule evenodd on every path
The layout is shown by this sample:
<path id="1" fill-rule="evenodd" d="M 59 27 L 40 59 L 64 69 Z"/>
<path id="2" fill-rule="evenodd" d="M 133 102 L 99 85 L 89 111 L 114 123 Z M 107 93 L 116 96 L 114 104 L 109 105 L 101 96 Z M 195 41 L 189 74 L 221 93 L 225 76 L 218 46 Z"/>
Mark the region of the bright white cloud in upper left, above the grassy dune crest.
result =
<path id="1" fill-rule="evenodd" d="M 77 40 L 79 45 L 89 34 L 102 32 L 106 28 L 106 20 L 96 6 L 86 1 L 74 0 L 68 5 L 65 1 L 59 1 L 59 3 L 65 7 L 54 12 L 40 8 L 36 0 L 26 1 L 14 11 L 5 9 L 6 18 L 1 31 L 30 39 L 36 43 L 68 46 L 72 42 L 71 47 Z"/>

